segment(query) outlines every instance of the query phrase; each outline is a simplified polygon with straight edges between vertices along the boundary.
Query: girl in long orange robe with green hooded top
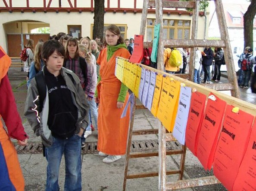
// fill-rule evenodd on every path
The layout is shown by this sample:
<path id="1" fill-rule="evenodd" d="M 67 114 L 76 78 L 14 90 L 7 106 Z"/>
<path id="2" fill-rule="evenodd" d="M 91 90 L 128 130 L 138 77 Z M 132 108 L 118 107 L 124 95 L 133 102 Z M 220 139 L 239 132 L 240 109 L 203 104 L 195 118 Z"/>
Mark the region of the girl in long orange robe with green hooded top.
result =
<path id="1" fill-rule="evenodd" d="M 116 25 L 110 25 L 105 32 L 107 48 L 100 52 L 97 63 L 100 76 L 95 93 L 98 109 L 98 146 L 100 156 L 106 156 L 104 163 L 119 160 L 125 155 L 129 127 L 129 108 L 121 118 L 128 100 L 128 88 L 115 76 L 116 57 L 130 58 L 125 41 Z"/>

